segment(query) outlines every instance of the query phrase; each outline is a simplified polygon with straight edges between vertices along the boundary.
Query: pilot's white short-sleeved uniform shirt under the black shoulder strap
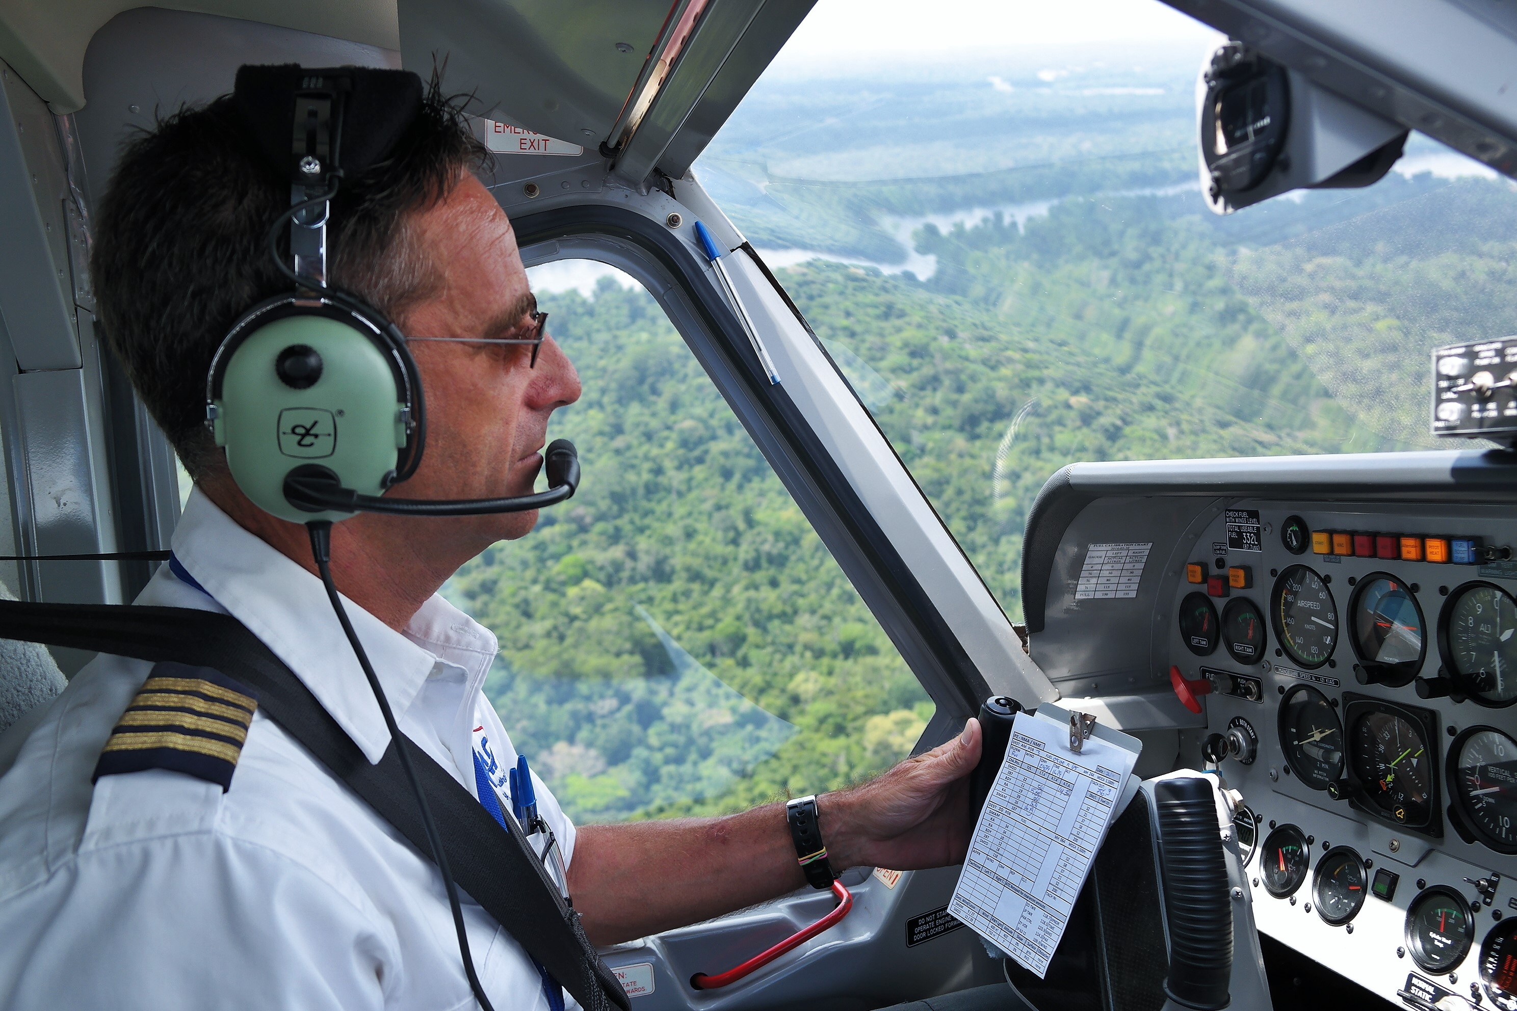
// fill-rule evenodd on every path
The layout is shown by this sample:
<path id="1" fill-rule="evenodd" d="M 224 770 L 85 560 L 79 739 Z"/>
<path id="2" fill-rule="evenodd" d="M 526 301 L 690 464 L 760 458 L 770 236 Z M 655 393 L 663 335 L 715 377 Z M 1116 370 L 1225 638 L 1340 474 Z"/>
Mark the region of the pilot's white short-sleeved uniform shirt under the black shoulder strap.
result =
<path id="1" fill-rule="evenodd" d="M 199 493 L 173 547 L 209 596 L 164 565 L 138 603 L 231 612 L 378 761 L 384 718 L 320 581 Z M 344 603 L 407 737 L 470 793 L 476 726 L 516 762 L 479 691 L 495 635 L 438 596 L 404 635 Z M 437 867 L 262 711 L 226 793 L 165 770 L 91 788 L 150 668 L 100 656 L 24 741 L 0 737 L 0 1008 L 476 1006 Z M 534 785 L 567 861 L 573 826 Z M 537 969 L 461 897 L 490 1002 L 546 1011 Z"/>

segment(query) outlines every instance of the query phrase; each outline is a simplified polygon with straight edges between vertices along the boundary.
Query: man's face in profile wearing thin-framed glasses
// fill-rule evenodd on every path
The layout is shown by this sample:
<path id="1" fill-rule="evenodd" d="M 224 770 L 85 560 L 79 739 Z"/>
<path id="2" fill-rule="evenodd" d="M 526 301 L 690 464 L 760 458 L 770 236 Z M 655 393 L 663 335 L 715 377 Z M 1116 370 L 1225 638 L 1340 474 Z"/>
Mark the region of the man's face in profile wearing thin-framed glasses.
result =
<path id="1" fill-rule="evenodd" d="M 446 200 L 411 221 L 441 280 L 428 300 L 397 323 L 414 336 L 526 338 L 532 308 L 516 233 L 501 205 L 473 176 Z M 543 465 L 539 450 L 555 408 L 579 399 L 579 376 L 552 341 L 543 341 L 537 365 L 531 347 L 411 343 L 426 394 L 426 452 L 414 477 L 396 485 L 407 499 L 495 499 L 532 493 Z M 402 520 L 410 537 L 428 537 L 417 524 L 451 524 L 448 534 L 488 544 L 526 535 L 537 512 L 460 520 Z M 434 534 L 441 534 L 435 531 Z"/>

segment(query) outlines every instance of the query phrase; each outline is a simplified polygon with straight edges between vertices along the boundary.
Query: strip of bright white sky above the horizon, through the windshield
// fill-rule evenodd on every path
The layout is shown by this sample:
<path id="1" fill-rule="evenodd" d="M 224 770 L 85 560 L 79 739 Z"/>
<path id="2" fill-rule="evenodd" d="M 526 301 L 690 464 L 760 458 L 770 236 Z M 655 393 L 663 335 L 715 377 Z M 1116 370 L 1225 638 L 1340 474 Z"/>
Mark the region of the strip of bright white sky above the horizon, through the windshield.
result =
<path id="1" fill-rule="evenodd" d="M 1212 29 L 1159 0 L 821 0 L 783 64 L 884 53 L 941 56 L 1069 42 L 1194 42 Z"/>

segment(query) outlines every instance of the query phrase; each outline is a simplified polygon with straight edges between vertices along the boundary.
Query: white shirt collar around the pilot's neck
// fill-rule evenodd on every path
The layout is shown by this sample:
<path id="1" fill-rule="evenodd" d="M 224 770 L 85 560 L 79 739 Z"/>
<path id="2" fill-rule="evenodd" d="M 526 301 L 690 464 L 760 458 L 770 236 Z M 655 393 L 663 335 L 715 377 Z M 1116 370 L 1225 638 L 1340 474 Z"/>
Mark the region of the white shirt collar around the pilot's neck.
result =
<path id="1" fill-rule="evenodd" d="M 305 682 L 364 756 L 378 762 L 390 732 L 322 581 L 238 526 L 199 488 L 174 529 L 173 552 L 217 603 Z M 397 720 L 437 661 L 461 667 L 466 687 L 478 688 L 495 658 L 495 635 L 437 594 L 422 605 L 405 634 L 346 596 L 343 606 Z"/>

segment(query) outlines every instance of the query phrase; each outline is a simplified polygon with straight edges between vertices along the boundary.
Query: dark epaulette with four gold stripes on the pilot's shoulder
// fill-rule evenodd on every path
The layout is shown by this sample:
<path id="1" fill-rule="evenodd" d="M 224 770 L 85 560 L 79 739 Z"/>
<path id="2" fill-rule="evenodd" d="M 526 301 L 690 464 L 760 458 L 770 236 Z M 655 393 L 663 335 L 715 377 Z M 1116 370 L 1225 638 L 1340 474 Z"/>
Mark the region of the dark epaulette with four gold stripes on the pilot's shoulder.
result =
<path id="1" fill-rule="evenodd" d="M 164 661 L 126 706 L 91 782 L 147 768 L 232 785 L 258 696 L 209 667 Z"/>

